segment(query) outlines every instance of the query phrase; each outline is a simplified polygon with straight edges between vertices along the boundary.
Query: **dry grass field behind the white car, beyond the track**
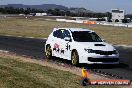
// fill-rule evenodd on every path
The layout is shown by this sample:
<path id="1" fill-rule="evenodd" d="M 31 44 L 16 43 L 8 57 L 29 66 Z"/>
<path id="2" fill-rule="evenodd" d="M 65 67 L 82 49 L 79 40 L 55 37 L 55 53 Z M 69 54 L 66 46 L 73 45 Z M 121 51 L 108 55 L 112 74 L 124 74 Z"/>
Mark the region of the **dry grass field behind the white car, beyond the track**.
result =
<path id="1" fill-rule="evenodd" d="M 2 19 L 0 20 L 0 34 L 43 38 L 48 37 L 55 27 L 79 27 L 94 30 L 112 44 L 132 45 L 132 28 L 45 21 L 44 19 Z"/>

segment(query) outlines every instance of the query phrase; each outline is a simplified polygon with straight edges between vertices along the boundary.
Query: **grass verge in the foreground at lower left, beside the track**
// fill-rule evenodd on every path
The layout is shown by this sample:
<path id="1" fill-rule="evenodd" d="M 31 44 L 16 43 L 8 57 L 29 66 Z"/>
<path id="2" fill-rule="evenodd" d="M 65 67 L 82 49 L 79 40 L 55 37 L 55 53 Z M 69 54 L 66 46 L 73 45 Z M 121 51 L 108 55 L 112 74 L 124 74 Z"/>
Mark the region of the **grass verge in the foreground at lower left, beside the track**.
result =
<path id="1" fill-rule="evenodd" d="M 96 86 L 110 88 L 110 86 Z M 116 88 L 116 86 L 112 86 Z M 84 88 L 79 76 L 20 59 L 0 57 L 0 88 Z"/>

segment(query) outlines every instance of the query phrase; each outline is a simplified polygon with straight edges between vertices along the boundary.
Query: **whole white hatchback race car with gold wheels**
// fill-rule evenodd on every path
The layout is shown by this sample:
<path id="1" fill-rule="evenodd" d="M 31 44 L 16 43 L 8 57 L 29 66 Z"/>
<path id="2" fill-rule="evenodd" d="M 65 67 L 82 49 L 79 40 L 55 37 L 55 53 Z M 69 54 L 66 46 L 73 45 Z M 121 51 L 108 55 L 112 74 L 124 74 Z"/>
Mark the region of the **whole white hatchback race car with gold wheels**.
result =
<path id="1" fill-rule="evenodd" d="M 46 41 L 45 52 L 47 58 L 71 60 L 73 65 L 119 63 L 118 51 L 89 29 L 54 28 Z"/>

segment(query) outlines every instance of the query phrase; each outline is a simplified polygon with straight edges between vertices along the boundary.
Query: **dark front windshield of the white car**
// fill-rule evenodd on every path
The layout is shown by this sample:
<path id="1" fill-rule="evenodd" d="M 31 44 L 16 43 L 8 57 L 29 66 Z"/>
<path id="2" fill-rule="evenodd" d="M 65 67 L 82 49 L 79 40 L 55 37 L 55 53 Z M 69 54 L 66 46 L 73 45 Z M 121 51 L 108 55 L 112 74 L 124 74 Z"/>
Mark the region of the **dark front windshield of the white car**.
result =
<path id="1" fill-rule="evenodd" d="M 72 32 L 74 41 L 77 42 L 102 42 L 101 38 L 95 32 L 74 31 Z"/>

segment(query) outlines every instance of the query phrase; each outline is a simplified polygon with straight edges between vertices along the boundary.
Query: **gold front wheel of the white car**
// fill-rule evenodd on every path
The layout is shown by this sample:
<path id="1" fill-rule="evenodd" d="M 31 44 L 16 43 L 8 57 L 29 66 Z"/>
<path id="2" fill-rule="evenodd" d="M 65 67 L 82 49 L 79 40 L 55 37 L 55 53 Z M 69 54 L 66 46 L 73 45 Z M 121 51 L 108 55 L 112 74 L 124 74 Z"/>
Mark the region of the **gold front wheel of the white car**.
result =
<path id="1" fill-rule="evenodd" d="M 71 64 L 77 66 L 79 64 L 79 55 L 76 50 L 74 50 L 71 54 Z"/>

